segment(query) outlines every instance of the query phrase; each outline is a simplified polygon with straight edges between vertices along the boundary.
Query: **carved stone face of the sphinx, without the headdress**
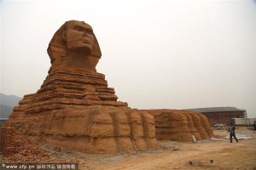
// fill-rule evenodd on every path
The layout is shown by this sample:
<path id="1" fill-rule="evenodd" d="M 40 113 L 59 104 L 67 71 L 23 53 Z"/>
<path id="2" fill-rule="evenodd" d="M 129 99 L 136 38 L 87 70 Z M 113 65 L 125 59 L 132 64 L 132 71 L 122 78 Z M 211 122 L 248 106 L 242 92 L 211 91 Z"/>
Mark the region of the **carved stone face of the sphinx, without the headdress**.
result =
<path id="1" fill-rule="evenodd" d="M 62 38 L 67 42 L 68 50 L 79 54 L 90 54 L 95 39 L 91 26 L 75 21 L 67 25 L 67 31 L 63 34 Z"/>

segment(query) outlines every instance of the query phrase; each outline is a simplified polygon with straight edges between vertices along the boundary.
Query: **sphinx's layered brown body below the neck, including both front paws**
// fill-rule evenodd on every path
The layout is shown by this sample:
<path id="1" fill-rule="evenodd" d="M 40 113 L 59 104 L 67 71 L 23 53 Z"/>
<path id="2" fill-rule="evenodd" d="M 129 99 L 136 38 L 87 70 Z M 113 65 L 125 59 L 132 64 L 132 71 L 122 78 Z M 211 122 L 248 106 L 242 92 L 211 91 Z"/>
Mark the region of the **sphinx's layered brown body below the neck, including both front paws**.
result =
<path id="1" fill-rule="evenodd" d="M 207 117 L 195 111 L 133 110 L 117 101 L 105 76 L 58 68 L 36 94 L 24 96 L 9 116 L 28 139 L 87 153 L 157 147 L 156 139 L 191 141 L 212 137 Z M 150 114 L 149 114 L 149 113 Z"/>

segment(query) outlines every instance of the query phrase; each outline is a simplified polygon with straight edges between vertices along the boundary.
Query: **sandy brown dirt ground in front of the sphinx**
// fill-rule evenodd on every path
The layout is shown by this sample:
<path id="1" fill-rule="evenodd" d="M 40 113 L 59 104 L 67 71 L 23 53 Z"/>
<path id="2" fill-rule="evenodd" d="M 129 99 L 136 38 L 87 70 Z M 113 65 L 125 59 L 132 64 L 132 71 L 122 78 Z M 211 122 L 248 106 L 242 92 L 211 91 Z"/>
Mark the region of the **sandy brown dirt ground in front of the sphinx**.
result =
<path id="1" fill-rule="evenodd" d="M 214 130 L 214 139 L 197 143 L 159 141 L 159 149 L 91 155 L 77 151 L 56 151 L 47 144 L 39 144 L 49 156 L 40 160 L 26 160 L 0 156 L 0 162 L 79 162 L 79 169 L 247 169 L 256 170 L 256 133 L 247 127 L 236 127 L 236 136 L 245 135 L 253 139 L 241 139 L 238 143 L 224 137 L 226 130 Z M 108 146 L 106 146 L 108 147 Z"/>

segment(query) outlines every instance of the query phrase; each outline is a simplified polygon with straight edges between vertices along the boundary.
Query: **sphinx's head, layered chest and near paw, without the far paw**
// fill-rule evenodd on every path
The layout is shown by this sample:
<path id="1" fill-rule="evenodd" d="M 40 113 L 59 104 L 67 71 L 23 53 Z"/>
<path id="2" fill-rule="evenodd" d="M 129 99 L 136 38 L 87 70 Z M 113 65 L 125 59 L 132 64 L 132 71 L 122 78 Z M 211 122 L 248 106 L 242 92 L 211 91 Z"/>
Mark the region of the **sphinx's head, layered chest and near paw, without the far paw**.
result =
<path id="1" fill-rule="evenodd" d="M 96 72 L 102 53 L 90 25 L 64 23 L 49 42 L 49 75 L 36 94 L 24 96 L 4 126 L 27 139 L 87 153 L 157 147 L 154 116 L 118 101 Z"/>

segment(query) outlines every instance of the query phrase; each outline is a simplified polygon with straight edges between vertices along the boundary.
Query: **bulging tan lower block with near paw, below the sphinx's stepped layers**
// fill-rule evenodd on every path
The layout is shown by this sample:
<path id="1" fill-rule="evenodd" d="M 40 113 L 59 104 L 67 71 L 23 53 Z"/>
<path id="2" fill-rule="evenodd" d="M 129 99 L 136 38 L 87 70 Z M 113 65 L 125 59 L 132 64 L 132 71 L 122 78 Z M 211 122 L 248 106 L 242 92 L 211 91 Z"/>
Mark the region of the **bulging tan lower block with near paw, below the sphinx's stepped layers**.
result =
<path id="1" fill-rule="evenodd" d="M 28 139 L 87 153 L 116 153 L 157 147 L 154 117 L 129 107 L 73 106 L 10 118 Z"/>

